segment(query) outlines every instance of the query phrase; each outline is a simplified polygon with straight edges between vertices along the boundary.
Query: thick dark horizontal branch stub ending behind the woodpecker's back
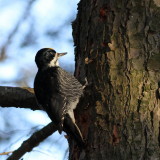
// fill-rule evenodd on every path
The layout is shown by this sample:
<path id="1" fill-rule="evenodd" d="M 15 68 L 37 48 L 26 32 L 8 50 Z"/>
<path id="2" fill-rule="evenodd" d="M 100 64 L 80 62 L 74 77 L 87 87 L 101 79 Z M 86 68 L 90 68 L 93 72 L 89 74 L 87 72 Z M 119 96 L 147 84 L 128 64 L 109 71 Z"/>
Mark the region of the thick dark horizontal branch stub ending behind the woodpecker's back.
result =
<path id="1" fill-rule="evenodd" d="M 0 86 L 0 106 L 40 110 L 33 88 Z"/>

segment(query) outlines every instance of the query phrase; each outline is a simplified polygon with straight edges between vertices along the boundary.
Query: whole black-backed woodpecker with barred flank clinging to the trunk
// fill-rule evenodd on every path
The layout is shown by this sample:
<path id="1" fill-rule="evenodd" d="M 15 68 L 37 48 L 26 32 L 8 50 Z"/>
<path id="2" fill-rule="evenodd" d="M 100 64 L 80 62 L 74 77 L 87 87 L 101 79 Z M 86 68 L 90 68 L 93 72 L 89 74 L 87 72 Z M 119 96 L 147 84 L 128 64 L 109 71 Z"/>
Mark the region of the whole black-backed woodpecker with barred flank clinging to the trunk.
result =
<path id="1" fill-rule="evenodd" d="M 59 66 L 59 57 L 66 54 L 51 48 L 42 48 L 37 52 L 35 62 L 38 72 L 34 91 L 39 106 L 47 112 L 59 133 L 65 131 L 79 146 L 84 146 L 73 112 L 83 94 L 83 86 Z"/>

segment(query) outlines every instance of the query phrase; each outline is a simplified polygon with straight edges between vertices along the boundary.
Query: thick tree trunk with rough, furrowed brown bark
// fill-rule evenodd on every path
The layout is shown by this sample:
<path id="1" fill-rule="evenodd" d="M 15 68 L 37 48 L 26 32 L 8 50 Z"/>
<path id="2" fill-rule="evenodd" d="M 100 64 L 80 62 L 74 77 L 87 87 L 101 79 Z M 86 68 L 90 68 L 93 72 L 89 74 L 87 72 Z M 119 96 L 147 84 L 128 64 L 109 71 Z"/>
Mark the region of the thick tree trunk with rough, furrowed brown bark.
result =
<path id="1" fill-rule="evenodd" d="M 73 36 L 89 85 L 76 111 L 87 146 L 70 159 L 159 160 L 160 2 L 81 0 Z"/>

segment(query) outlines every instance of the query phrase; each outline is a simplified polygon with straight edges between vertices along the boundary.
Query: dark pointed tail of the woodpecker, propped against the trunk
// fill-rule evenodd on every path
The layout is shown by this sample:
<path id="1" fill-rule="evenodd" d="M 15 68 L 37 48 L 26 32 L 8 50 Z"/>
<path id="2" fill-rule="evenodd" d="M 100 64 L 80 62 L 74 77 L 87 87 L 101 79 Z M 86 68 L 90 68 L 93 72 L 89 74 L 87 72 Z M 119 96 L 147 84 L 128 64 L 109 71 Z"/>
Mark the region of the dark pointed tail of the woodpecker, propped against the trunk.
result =
<path id="1" fill-rule="evenodd" d="M 71 136 L 81 148 L 84 148 L 85 142 L 82 137 L 81 131 L 79 130 L 76 123 L 72 121 L 69 115 L 66 115 L 64 119 L 64 131 L 67 135 Z"/>

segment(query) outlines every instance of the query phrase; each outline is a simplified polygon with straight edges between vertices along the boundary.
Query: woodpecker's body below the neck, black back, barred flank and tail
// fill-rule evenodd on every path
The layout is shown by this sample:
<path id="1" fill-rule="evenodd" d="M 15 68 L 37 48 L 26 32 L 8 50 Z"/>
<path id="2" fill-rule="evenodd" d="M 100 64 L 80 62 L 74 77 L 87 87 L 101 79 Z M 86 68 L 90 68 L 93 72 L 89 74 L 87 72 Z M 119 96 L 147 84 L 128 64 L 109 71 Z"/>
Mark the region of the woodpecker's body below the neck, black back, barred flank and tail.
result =
<path id="1" fill-rule="evenodd" d="M 83 93 L 83 86 L 78 80 L 62 68 L 52 67 L 38 71 L 34 89 L 38 103 L 46 110 L 59 132 L 66 131 L 82 144 L 83 138 L 75 124 L 74 114 L 73 117 L 69 114 L 76 108 Z"/>

